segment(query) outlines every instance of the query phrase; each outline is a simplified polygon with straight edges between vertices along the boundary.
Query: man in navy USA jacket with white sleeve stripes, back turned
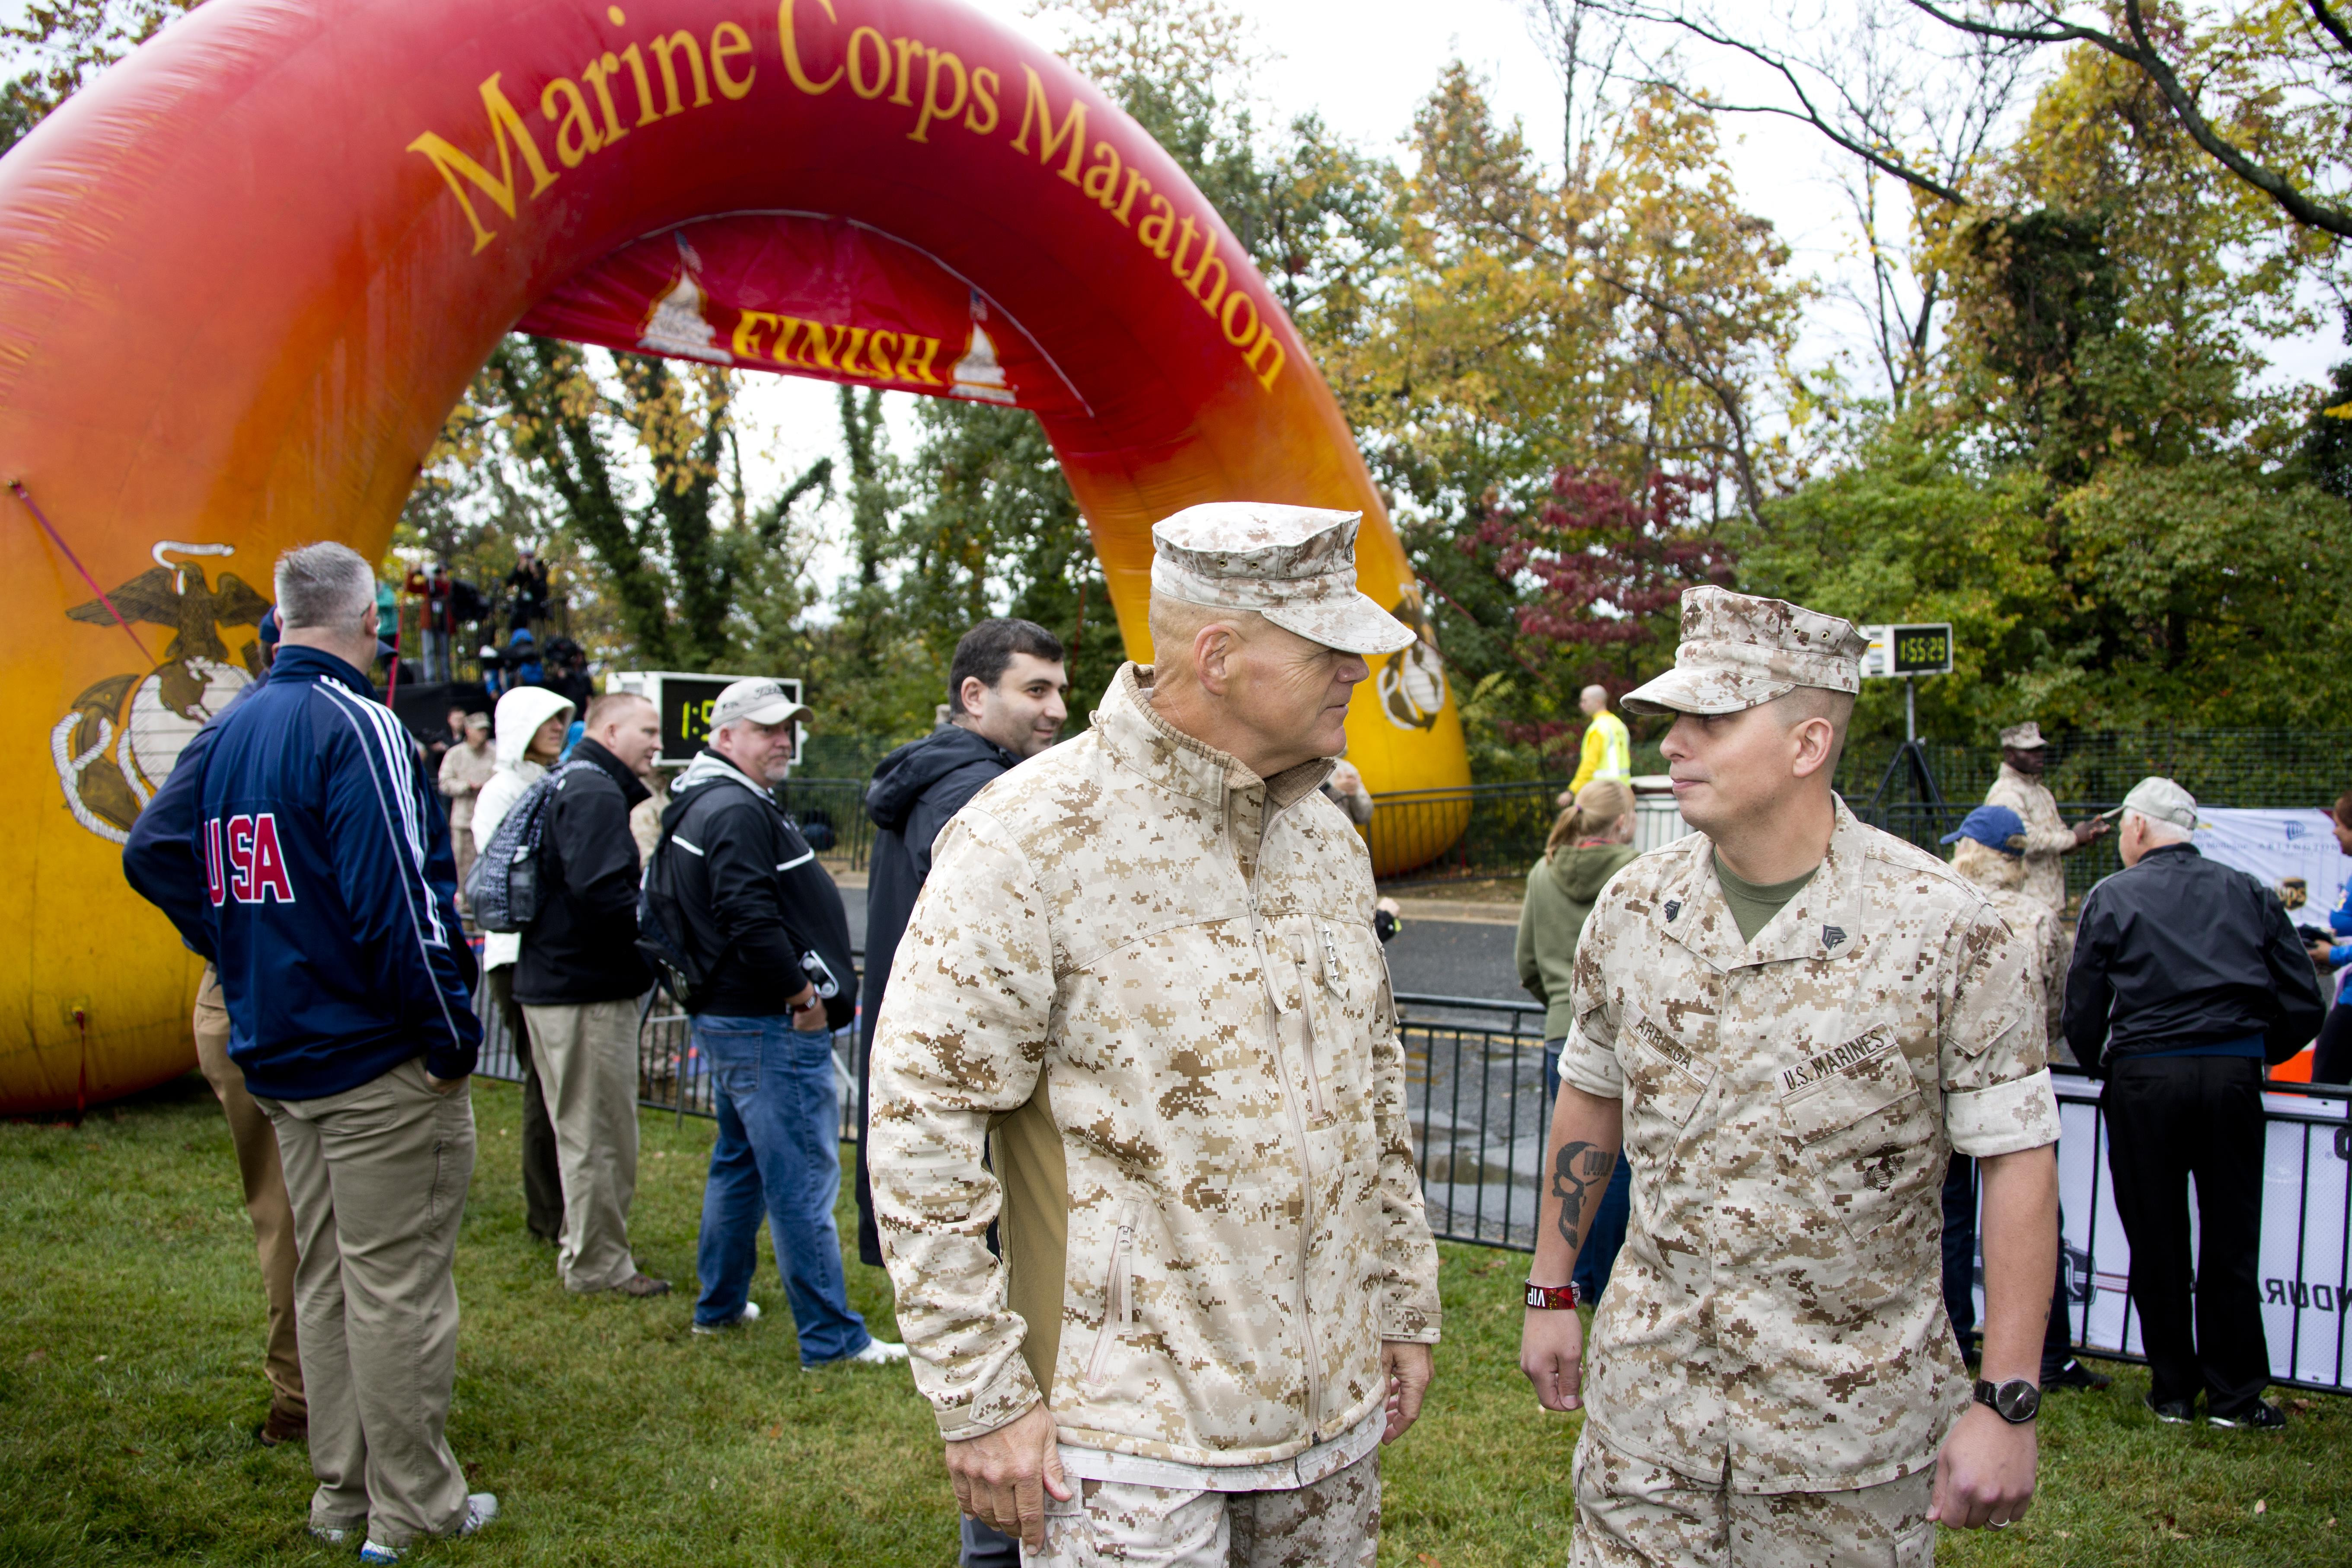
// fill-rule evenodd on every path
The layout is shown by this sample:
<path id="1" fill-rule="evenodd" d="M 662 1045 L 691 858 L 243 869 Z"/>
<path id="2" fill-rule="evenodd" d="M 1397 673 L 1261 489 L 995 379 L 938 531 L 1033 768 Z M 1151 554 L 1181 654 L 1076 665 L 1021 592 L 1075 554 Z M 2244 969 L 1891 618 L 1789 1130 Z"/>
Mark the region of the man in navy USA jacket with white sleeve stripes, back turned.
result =
<path id="1" fill-rule="evenodd" d="M 482 1025 L 459 931 L 449 827 L 362 668 L 376 581 L 343 545 L 278 557 L 270 679 L 202 757 L 202 936 L 228 1058 L 278 1128 L 301 1262 L 310 1533 L 365 1561 L 496 1514 L 449 1453 L 459 1215 L 473 1175 L 468 1079 Z"/>

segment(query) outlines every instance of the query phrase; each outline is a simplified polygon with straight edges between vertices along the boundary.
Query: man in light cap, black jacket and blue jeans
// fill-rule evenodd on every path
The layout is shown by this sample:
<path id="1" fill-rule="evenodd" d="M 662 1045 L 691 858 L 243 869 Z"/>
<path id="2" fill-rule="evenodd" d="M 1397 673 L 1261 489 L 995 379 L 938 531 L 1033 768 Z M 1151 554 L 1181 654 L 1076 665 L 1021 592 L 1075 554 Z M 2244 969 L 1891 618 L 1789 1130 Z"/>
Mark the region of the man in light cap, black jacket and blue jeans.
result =
<path id="1" fill-rule="evenodd" d="M 720 691 L 710 745 L 661 813 L 666 842 L 649 886 L 677 912 L 673 936 L 696 971 L 694 1048 L 717 1086 L 694 1333 L 760 1316 L 750 1276 L 764 1213 L 800 1366 L 814 1371 L 906 1361 L 906 1345 L 873 1338 L 849 1307 L 833 1225 L 842 1190 L 833 1030 L 851 1013 L 849 914 L 769 788 L 790 769 L 807 712 L 774 679 Z"/>

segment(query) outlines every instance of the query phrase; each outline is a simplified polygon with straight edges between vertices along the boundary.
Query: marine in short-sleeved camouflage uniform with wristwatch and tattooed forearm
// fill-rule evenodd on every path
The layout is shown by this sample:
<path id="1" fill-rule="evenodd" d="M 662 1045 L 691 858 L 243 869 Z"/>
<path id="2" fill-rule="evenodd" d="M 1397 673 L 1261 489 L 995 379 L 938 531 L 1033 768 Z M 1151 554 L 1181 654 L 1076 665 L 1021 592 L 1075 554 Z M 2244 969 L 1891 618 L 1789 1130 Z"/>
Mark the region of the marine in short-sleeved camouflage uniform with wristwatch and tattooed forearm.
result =
<path id="1" fill-rule="evenodd" d="M 1830 790 L 1860 686 L 1835 616 L 1682 599 L 1663 752 L 1698 832 L 1628 865 L 1576 954 L 1519 1366 L 1585 1408 L 1569 1561 L 1929 1563 L 2002 1528 L 2058 1260 L 2030 952 Z M 1618 1150 L 1632 1225 L 1583 1363 L 1569 1281 Z M 1985 1173 L 1985 1378 L 1945 1324 L 1945 1159 Z"/>

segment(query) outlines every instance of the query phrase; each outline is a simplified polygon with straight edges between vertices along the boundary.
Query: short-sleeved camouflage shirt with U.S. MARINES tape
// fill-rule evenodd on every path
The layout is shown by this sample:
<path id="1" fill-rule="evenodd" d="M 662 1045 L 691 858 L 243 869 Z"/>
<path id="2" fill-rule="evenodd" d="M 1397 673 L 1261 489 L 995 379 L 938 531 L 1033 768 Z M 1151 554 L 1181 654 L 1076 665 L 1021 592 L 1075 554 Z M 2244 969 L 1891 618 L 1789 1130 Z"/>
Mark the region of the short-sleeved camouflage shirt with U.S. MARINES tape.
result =
<path id="1" fill-rule="evenodd" d="M 1632 1161 L 1588 1432 L 1740 1493 L 1936 1462 L 1969 1408 L 1945 1161 L 2058 1140 L 2034 964 L 1978 889 L 1844 802 L 1752 943 L 1705 835 L 1616 875 L 1559 1053 L 1562 1081 L 1623 1098 Z"/>

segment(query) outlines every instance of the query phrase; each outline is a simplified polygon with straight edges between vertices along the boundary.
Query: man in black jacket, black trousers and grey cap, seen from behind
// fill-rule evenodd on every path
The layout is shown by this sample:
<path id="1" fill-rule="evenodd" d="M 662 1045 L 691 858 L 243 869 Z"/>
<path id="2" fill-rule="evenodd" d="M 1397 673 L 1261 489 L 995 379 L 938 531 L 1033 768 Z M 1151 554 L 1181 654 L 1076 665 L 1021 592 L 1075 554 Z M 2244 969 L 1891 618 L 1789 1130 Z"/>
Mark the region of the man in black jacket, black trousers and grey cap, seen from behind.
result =
<path id="1" fill-rule="evenodd" d="M 2190 844 L 2187 790 L 2143 778 L 2119 811 L 2124 870 L 2082 900 L 2065 1037 L 2107 1079 L 2107 1168 L 2131 1241 L 2147 1403 L 2157 1420 L 2190 1422 L 2204 1387 L 2216 1427 L 2284 1427 L 2260 1396 L 2263 1067 L 2319 1032 L 2319 983 L 2279 898 Z"/>

